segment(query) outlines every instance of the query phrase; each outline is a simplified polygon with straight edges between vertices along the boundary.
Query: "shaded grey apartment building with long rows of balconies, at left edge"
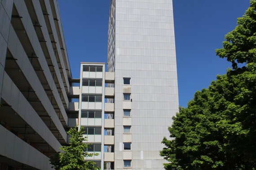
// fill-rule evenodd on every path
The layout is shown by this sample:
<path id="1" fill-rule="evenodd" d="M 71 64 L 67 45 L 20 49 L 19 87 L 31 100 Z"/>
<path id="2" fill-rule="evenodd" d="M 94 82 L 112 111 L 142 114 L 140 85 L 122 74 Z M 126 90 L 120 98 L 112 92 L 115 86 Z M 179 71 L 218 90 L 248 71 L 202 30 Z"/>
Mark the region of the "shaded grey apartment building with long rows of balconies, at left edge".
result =
<path id="1" fill-rule="evenodd" d="M 1 170 L 51 169 L 76 112 L 72 80 L 57 0 L 1 0 Z"/>

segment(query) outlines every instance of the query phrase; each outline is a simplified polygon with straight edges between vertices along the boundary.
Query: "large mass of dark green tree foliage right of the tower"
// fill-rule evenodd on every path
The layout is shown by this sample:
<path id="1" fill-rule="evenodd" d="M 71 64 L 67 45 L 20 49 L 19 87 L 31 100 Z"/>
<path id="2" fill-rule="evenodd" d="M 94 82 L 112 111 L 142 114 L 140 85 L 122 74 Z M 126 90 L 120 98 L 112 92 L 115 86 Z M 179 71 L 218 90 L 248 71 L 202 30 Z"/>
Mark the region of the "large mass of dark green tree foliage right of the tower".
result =
<path id="1" fill-rule="evenodd" d="M 179 108 L 160 151 L 166 170 L 254 170 L 256 167 L 256 1 L 225 35 L 216 54 L 232 63 L 208 89 Z M 242 65 L 242 66 L 241 66 Z"/>

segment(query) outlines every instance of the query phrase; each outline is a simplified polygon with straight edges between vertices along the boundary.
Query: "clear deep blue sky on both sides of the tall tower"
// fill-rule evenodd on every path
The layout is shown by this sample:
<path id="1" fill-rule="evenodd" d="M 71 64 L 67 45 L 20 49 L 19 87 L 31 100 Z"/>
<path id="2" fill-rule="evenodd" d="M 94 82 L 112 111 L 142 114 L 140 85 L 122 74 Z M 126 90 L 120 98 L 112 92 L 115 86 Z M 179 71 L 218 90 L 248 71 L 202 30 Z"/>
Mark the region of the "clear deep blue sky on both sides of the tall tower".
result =
<path id="1" fill-rule="evenodd" d="M 107 63 L 110 0 L 59 0 L 73 78 L 80 62 Z M 249 0 L 173 0 L 179 104 L 186 107 L 231 64 L 216 56 L 224 36 L 234 30 Z"/>

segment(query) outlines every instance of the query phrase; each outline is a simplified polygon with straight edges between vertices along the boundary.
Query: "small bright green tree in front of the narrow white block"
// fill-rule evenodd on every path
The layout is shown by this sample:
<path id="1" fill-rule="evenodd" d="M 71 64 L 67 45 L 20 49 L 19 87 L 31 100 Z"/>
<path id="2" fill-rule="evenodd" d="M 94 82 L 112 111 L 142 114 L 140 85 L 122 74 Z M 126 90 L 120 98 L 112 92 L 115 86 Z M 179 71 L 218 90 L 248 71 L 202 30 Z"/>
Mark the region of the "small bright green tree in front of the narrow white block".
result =
<path id="1" fill-rule="evenodd" d="M 84 143 L 87 141 L 83 137 L 84 127 L 80 127 L 79 131 L 76 130 L 76 127 L 71 128 L 67 133 L 71 136 L 70 145 L 62 146 L 60 149 L 64 152 L 59 152 L 51 157 L 52 168 L 55 170 L 100 170 L 99 167 L 93 167 L 95 162 L 84 161 L 85 157 L 93 156 L 93 153 L 86 152 L 86 149 L 90 148 L 90 144 Z M 98 153 L 94 155 L 98 155 Z"/>

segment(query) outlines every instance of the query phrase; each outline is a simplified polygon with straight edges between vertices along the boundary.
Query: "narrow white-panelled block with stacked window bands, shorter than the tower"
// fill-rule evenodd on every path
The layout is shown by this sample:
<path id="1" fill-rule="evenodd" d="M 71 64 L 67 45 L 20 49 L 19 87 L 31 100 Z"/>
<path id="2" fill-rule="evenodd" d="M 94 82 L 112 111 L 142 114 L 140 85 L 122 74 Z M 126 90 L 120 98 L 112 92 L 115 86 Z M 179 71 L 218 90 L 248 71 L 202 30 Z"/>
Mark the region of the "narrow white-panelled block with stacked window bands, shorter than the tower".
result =
<path id="1" fill-rule="evenodd" d="M 81 63 L 79 91 L 79 129 L 84 127 L 88 153 L 98 156 L 87 157 L 94 166 L 104 167 L 104 97 L 105 63 Z"/>

